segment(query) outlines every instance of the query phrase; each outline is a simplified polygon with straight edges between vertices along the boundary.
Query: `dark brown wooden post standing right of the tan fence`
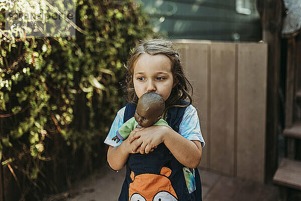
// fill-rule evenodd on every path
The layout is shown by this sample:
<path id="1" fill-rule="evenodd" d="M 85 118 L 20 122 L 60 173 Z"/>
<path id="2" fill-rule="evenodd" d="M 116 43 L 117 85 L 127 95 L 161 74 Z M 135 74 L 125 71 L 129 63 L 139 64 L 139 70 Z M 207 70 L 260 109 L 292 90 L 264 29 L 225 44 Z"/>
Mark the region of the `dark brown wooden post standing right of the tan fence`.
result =
<path id="1" fill-rule="evenodd" d="M 266 108 L 266 178 L 270 182 L 278 166 L 278 133 L 279 133 L 279 83 L 281 51 L 282 13 L 285 10 L 283 1 L 260 0 L 257 10 L 262 24 L 262 40 L 268 44 L 268 78 L 267 78 L 267 108 Z M 271 26 L 272 25 L 272 26 Z"/>

